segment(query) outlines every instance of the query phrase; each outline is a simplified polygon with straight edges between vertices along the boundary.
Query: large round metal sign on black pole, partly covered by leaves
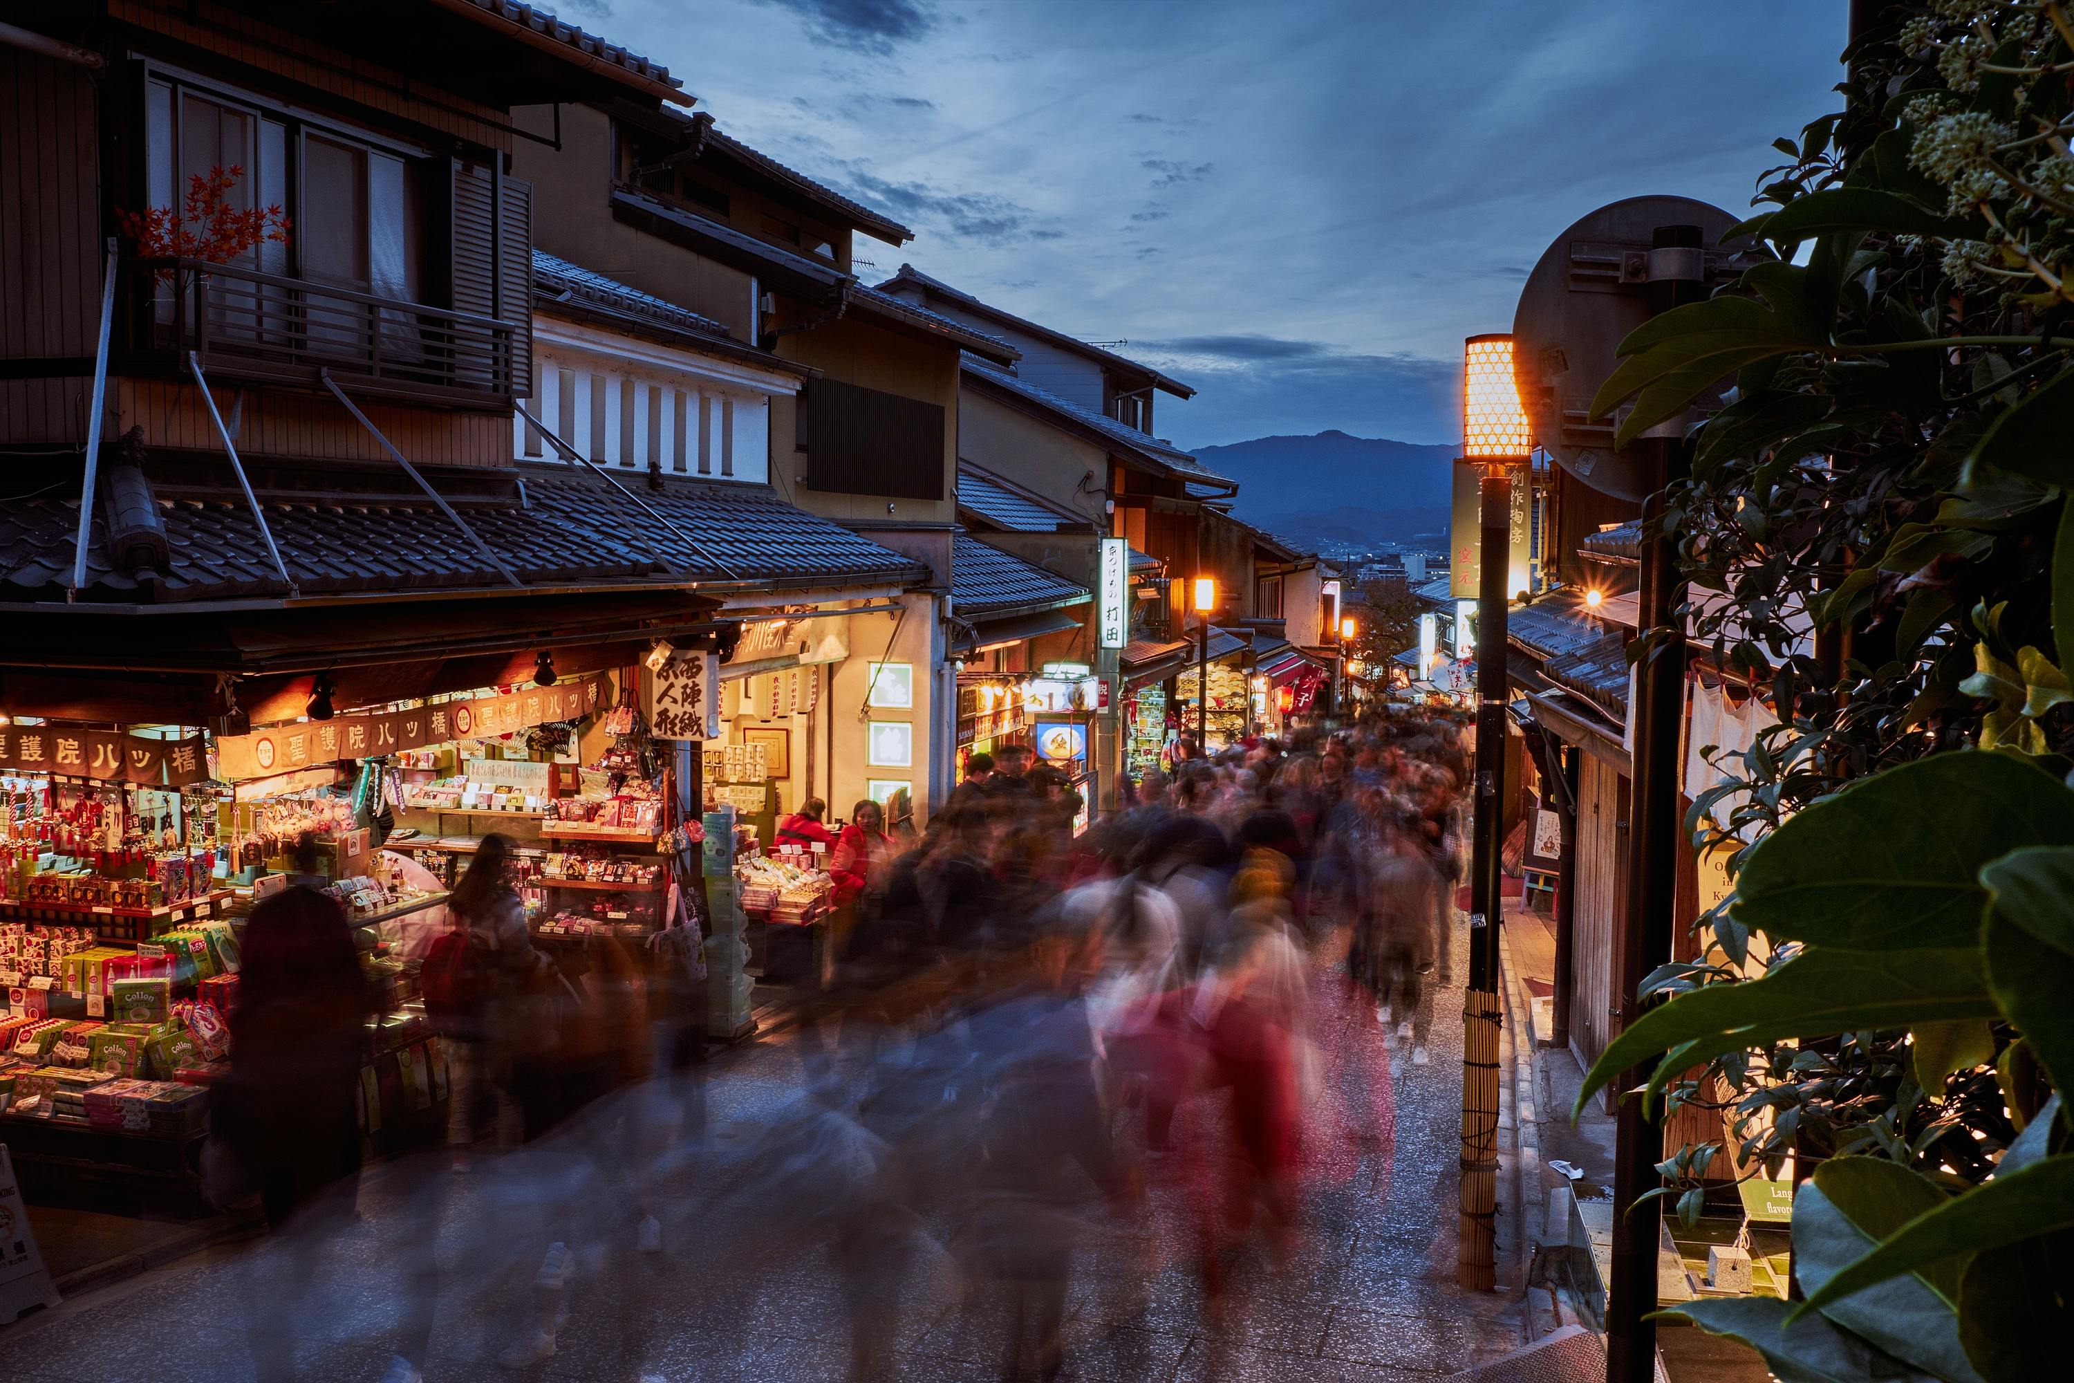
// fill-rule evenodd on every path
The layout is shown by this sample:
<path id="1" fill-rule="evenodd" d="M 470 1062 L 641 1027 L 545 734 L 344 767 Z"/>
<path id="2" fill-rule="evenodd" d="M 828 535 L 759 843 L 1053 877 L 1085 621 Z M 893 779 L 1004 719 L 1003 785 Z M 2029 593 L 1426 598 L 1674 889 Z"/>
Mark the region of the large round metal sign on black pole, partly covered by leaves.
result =
<path id="1" fill-rule="evenodd" d="M 1520 402 L 1535 442 L 1593 489 L 1618 500 L 1645 498 L 1641 454 L 1614 450 L 1614 419 L 1589 417 L 1591 396 L 1620 363 L 1614 352 L 1622 338 L 1653 315 L 1653 274 L 1688 278 L 1697 267 L 1713 290 L 1748 267 L 1740 253 L 1746 238 L 1721 249 L 1721 232 L 1736 220 L 1692 197 L 1628 197 L 1555 236 L 1526 276 L 1512 315 Z M 1701 249 L 1651 255 L 1657 226 L 1699 226 Z"/>

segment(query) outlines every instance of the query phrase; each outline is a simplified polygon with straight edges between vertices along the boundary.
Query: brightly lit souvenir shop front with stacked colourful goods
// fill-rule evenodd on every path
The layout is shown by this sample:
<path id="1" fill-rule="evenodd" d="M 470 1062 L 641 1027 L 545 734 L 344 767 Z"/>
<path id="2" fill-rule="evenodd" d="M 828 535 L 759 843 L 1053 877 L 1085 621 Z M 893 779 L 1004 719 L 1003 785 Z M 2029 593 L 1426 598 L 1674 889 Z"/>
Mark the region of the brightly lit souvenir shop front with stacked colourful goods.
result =
<path id="1" fill-rule="evenodd" d="M 647 666 L 558 676 L 541 655 L 531 682 L 373 707 L 319 676 L 301 717 L 243 734 L 0 726 L 0 1142 L 25 1194 L 197 1207 L 243 923 L 290 887 L 303 831 L 377 995 L 359 1097 L 377 1153 L 446 1126 L 419 966 L 487 831 L 514 842 L 533 941 L 579 993 L 643 985 L 672 954 L 653 933 L 686 925 L 707 1031 L 751 1031 L 753 960 L 811 981 L 821 950 L 828 860 L 767 829 L 817 684 L 722 680 L 716 653 L 657 643 Z M 726 734 L 786 715 L 786 740 Z"/>

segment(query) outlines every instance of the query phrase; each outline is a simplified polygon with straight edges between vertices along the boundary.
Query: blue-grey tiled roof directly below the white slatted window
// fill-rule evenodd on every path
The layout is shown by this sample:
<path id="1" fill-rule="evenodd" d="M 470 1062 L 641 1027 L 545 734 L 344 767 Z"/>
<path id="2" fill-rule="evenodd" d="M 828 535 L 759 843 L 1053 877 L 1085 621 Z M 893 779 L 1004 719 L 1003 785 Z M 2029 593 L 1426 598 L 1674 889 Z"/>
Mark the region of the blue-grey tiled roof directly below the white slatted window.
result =
<path id="1" fill-rule="evenodd" d="M 724 581 L 732 572 L 742 581 L 869 585 L 927 572 L 915 558 L 792 508 L 763 485 L 664 479 L 651 489 L 645 477 L 620 477 L 643 504 L 695 539 L 695 549 L 595 475 L 527 467 L 525 481 L 537 508 L 556 508 L 601 533 L 639 531 L 695 581 Z"/>

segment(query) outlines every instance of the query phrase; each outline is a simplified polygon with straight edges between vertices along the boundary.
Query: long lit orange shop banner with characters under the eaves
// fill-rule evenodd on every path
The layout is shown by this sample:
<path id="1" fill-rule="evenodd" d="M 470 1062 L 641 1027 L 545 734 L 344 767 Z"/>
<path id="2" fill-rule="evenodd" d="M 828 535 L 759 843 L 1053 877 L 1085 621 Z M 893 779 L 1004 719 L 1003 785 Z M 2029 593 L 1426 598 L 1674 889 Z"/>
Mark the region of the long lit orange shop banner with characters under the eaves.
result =
<path id="1" fill-rule="evenodd" d="M 334 715 L 332 719 L 270 726 L 251 734 L 226 734 L 216 740 L 218 773 L 228 782 L 239 782 L 338 763 L 340 759 L 375 759 L 427 744 L 516 734 L 533 726 L 583 719 L 601 711 L 610 690 L 608 674 L 597 672 L 554 686 L 529 686 L 506 697 L 471 697 L 409 711 Z"/>

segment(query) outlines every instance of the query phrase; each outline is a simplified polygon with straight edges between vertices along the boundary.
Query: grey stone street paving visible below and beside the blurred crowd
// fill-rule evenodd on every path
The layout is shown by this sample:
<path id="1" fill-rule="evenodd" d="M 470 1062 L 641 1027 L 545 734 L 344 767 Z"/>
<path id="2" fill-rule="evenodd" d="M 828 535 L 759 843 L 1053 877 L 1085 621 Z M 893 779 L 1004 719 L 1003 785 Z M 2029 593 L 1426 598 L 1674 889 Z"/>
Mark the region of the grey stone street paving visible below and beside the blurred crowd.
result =
<path id="1" fill-rule="evenodd" d="M 1454 954 L 1462 956 L 1460 925 Z M 1431 1064 L 1398 1066 L 1388 1157 L 1313 1203 L 1309 1234 L 1286 1265 L 1242 1263 L 1234 1304 L 1215 1327 L 1205 1323 L 1201 1288 L 1172 1244 L 1128 1232 L 1083 1252 L 1068 1298 L 1064 1377 L 1406 1383 L 1516 1348 L 1516 1302 L 1468 1298 L 1452 1283 L 1458 1012 L 1460 983 L 1435 999 Z M 427 1213 L 444 1217 L 427 1366 L 436 1383 L 846 1377 L 846 1317 L 823 1250 L 788 1248 L 788 1236 L 769 1232 L 772 1207 L 724 1190 L 757 1184 L 732 1151 L 796 1097 L 801 1047 L 769 1039 L 716 1062 L 707 1149 L 670 1174 L 660 1194 L 664 1254 L 630 1250 L 626 1196 L 585 1180 L 583 1159 L 562 1147 L 529 1149 L 502 1172 L 485 1165 L 452 1176 L 438 1167 L 421 1184 L 444 1198 L 442 1211 L 425 1209 L 409 1165 L 371 1169 L 359 1221 L 317 1267 L 301 1377 L 382 1377 L 400 1325 L 396 1300 L 411 1292 L 396 1246 Z M 514 1176 L 514 1165 L 533 1178 Z M 533 1201 L 514 1190 L 518 1180 L 556 1178 L 574 1186 L 585 1207 L 564 1227 L 539 1223 Z M 492 1358 L 521 1327 L 537 1244 L 550 1238 L 566 1238 L 579 1257 L 568 1323 L 552 1360 L 510 1373 Z M 1164 1267 L 1147 1267 L 1159 1261 Z M 948 1261 L 913 1271 L 894 1377 L 1000 1377 L 1000 1321 L 981 1304 L 960 1304 L 954 1281 Z M 199 1254 L 0 1331 L 6 1377 L 243 1383 L 253 1377 L 243 1310 L 259 1302 L 276 1313 L 282 1283 L 278 1250 L 263 1240 Z"/>

